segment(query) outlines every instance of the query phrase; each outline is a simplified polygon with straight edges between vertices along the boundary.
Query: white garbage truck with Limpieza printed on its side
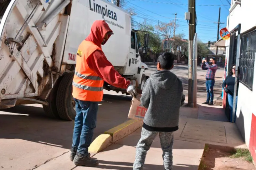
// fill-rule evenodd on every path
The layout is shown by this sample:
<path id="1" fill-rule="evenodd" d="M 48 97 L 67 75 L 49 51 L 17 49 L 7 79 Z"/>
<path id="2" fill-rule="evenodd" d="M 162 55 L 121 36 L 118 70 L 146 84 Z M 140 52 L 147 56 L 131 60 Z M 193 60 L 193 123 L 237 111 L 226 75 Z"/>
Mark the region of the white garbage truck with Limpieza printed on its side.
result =
<path id="1" fill-rule="evenodd" d="M 102 46 L 105 56 L 142 89 L 147 65 L 126 11 L 105 0 L 0 0 L 0 108 L 38 103 L 50 117 L 74 120 L 77 48 L 100 19 L 114 33 Z M 145 34 L 144 52 L 147 45 Z M 106 82 L 104 89 L 125 93 Z"/>

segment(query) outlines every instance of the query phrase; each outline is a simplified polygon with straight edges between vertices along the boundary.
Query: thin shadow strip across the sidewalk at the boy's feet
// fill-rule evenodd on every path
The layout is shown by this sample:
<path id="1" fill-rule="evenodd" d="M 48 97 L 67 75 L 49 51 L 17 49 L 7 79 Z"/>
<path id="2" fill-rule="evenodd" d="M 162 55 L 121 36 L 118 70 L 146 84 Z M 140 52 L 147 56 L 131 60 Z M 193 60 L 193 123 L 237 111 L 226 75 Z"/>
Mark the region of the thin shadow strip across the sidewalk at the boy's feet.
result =
<path id="1" fill-rule="evenodd" d="M 115 162 L 115 161 L 104 161 L 99 160 L 99 166 L 97 168 L 100 169 L 116 169 L 116 170 L 131 170 L 133 167 L 133 163 L 128 162 Z M 102 165 L 105 164 L 105 165 Z M 172 170 L 197 170 L 198 166 L 195 165 L 186 165 L 186 164 L 178 164 L 180 166 L 174 165 Z M 127 166 L 127 167 L 123 167 Z M 163 169 L 163 165 L 153 165 L 153 164 L 145 164 L 143 169 L 147 170 L 160 170 Z"/>

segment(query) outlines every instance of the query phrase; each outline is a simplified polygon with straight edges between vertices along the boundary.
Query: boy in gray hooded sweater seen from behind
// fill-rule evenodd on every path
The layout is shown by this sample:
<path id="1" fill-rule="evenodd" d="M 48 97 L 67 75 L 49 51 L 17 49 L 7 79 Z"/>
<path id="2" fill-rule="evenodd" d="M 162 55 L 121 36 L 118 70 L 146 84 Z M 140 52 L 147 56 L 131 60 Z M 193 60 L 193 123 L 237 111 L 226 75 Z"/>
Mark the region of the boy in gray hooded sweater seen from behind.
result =
<path id="1" fill-rule="evenodd" d="M 157 72 L 144 84 L 141 105 L 147 108 L 133 170 L 143 169 L 146 153 L 157 134 L 163 151 L 163 165 L 172 169 L 173 132 L 179 129 L 182 81 L 172 72 L 174 55 L 165 52 L 157 59 Z"/>

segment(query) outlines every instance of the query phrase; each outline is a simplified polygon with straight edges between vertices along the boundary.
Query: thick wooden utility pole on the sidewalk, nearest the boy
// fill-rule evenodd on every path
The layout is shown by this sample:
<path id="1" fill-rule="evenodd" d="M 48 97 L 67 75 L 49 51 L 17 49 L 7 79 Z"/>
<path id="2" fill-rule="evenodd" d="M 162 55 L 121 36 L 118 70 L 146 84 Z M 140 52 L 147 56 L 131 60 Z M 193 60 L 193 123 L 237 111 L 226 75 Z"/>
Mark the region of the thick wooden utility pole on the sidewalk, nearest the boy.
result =
<path id="1" fill-rule="evenodd" d="M 188 43 L 188 106 L 196 107 L 197 106 L 197 81 L 196 74 L 193 77 L 193 70 L 197 70 L 197 62 L 193 61 L 193 41 L 196 33 L 196 1 L 188 0 L 188 12 L 190 12 L 189 20 L 189 43 Z M 195 64 L 194 64 L 195 63 Z M 194 67 L 194 69 L 193 69 Z"/>

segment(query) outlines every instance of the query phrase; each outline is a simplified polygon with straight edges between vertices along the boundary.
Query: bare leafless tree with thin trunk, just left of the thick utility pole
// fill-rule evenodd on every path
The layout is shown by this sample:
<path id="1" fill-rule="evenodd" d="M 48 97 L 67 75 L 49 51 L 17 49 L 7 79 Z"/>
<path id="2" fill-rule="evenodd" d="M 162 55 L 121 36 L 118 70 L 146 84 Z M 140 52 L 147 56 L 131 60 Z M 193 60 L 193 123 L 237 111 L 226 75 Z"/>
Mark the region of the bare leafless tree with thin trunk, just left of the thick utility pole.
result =
<path id="1" fill-rule="evenodd" d="M 176 25 L 177 28 L 177 25 Z M 161 22 L 156 29 L 160 32 L 160 34 L 167 39 L 167 50 L 170 51 L 170 38 L 172 37 L 174 31 L 174 21 L 170 21 L 169 23 Z"/>

